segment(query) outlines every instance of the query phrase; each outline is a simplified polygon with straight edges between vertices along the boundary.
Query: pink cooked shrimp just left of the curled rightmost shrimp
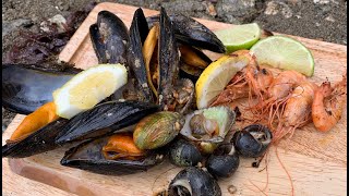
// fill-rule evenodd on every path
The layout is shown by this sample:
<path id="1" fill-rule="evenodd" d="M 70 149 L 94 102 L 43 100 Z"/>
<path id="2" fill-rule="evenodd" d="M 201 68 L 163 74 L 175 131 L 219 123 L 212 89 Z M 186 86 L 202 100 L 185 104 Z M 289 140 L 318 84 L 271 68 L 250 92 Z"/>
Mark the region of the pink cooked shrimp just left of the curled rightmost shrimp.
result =
<path id="1" fill-rule="evenodd" d="M 311 121 L 311 109 L 317 86 L 312 82 L 303 82 L 294 88 L 289 99 L 281 108 L 281 119 L 273 131 L 273 142 L 277 143 L 287 134 L 293 135 L 298 127 Z"/>

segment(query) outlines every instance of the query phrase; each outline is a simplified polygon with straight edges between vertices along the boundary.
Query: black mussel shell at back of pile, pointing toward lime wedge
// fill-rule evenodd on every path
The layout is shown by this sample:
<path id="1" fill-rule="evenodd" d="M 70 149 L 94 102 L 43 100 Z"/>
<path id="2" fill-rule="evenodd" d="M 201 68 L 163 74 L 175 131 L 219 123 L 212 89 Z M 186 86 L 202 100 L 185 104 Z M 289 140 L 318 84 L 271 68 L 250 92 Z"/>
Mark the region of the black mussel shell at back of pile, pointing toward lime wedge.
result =
<path id="1" fill-rule="evenodd" d="M 205 25 L 182 14 L 170 14 L 170 20 L 178 41 L 218 53 L 226 52 L 226 48 L 219 38 Z M 147 17 L 149 26 L 158 21 L 159 15 Z"/>

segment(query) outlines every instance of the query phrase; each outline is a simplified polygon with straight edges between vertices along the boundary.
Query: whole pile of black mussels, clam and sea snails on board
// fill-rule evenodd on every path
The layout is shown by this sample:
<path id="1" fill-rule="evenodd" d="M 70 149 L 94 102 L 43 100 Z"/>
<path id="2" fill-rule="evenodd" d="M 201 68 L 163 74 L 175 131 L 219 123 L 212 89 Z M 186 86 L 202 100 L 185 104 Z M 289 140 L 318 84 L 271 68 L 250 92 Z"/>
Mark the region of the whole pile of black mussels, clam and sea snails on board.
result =
<path id="1" fill-rule="evenodd" d="M 65 152 L 62 166 L 116 175 L 145 171 L 168 158 L 185 167 L 169 184 L 169 195 L 221 195 L 217 180 L 237 171 L 239 156 L 265 152 L 272 139 L 267 127 L 254 124 L 228 134 L 236 121 L 229 107 L 195 110 L 194 83 L 212 62 L 202 49 L 225 52 L 207 27 L 164 9 L 146 19 L 137 9 L 128 30 L 118 16 L 101 11 L 89 35 L 99 63 L 127 66 L 128 84 L 70 120 L 58 119 L 8 140 L 2 157 L 23 158 L 79 143 Z M 79 72 L 4 64 L 2 106 L 28 114 L 52 101 L 52 91 Z"/>

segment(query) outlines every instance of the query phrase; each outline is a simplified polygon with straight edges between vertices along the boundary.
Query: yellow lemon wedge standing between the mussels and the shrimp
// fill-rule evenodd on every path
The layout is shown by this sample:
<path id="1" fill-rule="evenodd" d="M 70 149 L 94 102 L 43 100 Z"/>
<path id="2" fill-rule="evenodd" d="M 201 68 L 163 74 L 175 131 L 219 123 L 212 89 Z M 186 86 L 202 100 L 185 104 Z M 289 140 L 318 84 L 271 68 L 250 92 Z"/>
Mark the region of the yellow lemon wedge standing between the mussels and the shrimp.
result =
<path id="1" fill-rule="evenodd" d="M 209 107 L 233 75 L 250 63 L 251 58 L 248 50 L 240 50 L 229 56 L 222 56 L 210 63 L 195 84 L 197 108 Z"/>

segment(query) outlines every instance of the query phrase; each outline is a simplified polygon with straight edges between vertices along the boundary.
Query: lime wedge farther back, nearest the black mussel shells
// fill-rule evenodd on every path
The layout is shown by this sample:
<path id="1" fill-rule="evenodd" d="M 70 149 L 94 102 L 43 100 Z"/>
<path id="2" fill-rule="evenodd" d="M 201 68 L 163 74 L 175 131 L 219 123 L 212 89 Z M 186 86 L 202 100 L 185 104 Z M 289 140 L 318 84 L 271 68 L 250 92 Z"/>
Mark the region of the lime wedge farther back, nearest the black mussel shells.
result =
<path id="1" fill-rule="evenodd" d="M 234 25 L 231 28 L 215 32 L 225 45 L 227 53 L 250 49 L 261 37 L 261 28 L 256 23 Z"/>

